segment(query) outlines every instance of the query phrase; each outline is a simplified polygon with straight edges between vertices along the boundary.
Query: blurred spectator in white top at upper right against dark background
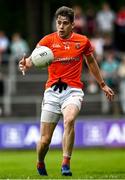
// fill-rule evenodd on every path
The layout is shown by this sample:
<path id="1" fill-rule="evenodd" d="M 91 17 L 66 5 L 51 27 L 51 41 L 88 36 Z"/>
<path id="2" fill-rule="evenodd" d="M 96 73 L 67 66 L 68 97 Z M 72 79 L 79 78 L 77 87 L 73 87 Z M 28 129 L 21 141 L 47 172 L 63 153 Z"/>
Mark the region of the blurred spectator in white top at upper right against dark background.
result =
<path id="1" fill-rule="evenodd" d="M 102 34 L 112 34 L 114 30 L 115 13 L 108 3 L 102 4 L 102 9 L 96 15 L 97 28 Z"/>

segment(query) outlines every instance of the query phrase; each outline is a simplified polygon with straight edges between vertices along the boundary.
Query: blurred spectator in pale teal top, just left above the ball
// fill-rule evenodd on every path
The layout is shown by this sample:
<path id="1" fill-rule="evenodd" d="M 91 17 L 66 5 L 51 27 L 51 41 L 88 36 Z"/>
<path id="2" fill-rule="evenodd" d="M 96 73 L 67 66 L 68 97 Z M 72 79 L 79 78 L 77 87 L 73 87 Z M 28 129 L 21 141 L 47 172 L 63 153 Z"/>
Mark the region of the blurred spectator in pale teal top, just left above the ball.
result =
<path id="1" fill-rule="evenodd" d="M 28 43 L 26 42 L 26 40 L 24 40 L 21 37 L 20 33 L 14 33 L 12 35 L 10 50 L 11 50 L 11 56 L 16 61 L 22 58 L 24 54 L 28 55 L 30 51 Z"/>

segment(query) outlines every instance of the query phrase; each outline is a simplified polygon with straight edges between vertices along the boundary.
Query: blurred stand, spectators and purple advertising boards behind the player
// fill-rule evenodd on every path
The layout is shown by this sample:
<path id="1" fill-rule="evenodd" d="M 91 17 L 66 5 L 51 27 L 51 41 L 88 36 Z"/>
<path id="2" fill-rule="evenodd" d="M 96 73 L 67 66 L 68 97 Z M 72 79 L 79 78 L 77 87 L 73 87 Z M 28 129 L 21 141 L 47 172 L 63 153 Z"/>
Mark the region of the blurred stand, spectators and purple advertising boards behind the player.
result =
<path id="1" fill-rule="evenodd" d="M 89 37 L 103 77 L 116 93 L 109 103 L 84 64 L 75 146 L 125 146 L 124 0 L 0 0 L 0 149 L 35 147 L 47 69 L 32 68 L 22 76 L 18 62 L 55 31 L 54 13 L 62 5 L 74 9 L 74 31 Z M 60 121 L 52 146 L 61 146 L 62 132 Z"/>

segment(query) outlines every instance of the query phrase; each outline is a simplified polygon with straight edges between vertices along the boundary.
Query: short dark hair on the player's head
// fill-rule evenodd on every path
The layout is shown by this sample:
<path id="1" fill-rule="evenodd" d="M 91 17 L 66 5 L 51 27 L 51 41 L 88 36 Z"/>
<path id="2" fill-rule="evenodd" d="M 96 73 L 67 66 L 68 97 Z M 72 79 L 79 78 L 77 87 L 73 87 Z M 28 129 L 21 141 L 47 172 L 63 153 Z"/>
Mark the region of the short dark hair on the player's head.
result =
<path id="1" fill-rule="evenodd" d="M 74 21 L 74 11 L 72 8 L 66 6 L 60 7 L 59 9 L 57 9 L 55 13 L 56 19 L 58 18 L 59 15 L 68 17 L 71 23 Z"/>

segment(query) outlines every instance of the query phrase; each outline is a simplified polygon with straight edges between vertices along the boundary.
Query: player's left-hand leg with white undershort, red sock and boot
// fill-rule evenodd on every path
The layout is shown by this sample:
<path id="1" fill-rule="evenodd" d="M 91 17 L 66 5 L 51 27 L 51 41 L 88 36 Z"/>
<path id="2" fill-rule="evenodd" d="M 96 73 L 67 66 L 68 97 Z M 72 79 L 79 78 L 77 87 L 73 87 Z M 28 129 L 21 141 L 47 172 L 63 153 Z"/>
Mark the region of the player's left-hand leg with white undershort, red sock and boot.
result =
<path id="1" fill-rule="evenodd" d="M 40 175 L 47 175 L 44 159 L 59 118 L 59 114 L 45 110 L 41 114 L 40 140 L 37 144 L 37 170 Z"/>

